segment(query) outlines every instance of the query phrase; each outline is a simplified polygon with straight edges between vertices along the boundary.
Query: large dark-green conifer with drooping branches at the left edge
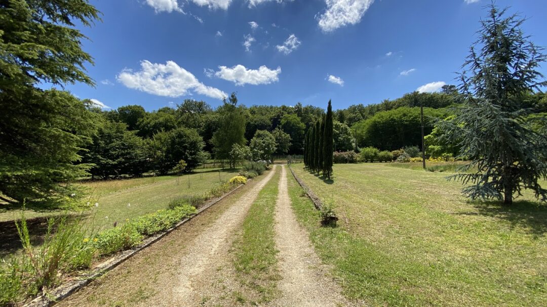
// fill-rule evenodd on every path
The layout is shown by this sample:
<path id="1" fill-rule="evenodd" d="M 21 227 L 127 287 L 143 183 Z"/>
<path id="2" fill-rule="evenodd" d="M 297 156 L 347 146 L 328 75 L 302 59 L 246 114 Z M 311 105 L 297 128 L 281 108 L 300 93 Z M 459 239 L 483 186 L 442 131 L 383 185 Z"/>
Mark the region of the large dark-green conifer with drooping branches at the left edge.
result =
<path id="1" fill-rule="evenodd" d="M 39 85 L 93 85 L 84 64 L 85 36 L 98 11 L 86 1 L 0 3 L 0 193 L 10 202 L 60 199 L 85 175 L 78 152 L 95 132 L 90 101 Z"/>

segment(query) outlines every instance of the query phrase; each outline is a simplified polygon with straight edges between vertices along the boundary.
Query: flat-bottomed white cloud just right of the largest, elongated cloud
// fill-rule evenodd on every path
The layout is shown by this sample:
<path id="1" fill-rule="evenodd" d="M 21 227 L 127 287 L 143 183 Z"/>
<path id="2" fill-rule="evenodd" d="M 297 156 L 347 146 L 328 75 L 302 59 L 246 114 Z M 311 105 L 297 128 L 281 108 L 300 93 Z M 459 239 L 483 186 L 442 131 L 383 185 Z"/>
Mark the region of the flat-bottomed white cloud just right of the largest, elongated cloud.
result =
<path id="1" fill-rule="evenodd" d="M 279 81 L 278 75 L 281 74 L 281 67 L 269 69 L 266 66 L 260 66 L 258 69 L 247 69 L 243 65 L 234 67 L 219 66 L 220 70 L 214 75 L 217 78 L 232 81 L 236 85 L 259 85 L 270 84 Z"/>

